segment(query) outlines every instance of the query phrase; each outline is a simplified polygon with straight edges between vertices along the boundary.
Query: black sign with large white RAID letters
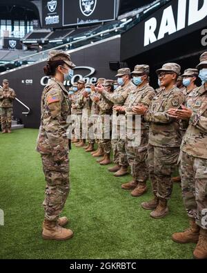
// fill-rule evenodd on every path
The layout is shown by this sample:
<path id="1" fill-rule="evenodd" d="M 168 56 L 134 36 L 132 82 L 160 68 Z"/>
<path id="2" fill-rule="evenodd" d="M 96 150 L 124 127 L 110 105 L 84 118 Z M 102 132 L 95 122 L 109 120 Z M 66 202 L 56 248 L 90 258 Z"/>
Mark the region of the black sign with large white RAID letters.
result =
<path id="1" fill-rule="evenodd" d="M 206 26 L 207 0 L 172 0 L 122 35 L 121 59 L 139 55 Z M 133 44 L 128 50 L 130 40 Z"/>

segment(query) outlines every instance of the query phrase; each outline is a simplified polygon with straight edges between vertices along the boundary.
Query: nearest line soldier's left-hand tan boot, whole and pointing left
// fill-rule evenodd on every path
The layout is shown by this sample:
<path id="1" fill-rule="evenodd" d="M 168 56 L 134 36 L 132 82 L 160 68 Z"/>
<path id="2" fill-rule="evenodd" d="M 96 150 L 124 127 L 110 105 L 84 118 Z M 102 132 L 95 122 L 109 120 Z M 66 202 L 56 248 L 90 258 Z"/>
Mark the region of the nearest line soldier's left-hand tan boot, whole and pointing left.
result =
<path id="1" fill-rule="evenodd" d="M 199 241 L 199 226 L 194 219 L 190 219 L 190 227 L 184 232 L 172 234 L 172 241 L 176 243 L 197 243 Z"/>

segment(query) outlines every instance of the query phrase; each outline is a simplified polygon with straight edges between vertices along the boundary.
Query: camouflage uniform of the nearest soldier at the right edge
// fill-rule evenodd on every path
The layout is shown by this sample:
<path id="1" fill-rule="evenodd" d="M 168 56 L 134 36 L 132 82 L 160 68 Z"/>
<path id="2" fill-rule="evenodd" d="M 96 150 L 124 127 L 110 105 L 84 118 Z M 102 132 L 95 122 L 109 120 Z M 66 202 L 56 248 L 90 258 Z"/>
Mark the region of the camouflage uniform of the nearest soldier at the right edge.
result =
<path id="1" fill-rule="evenodd" d="M 182 194 L 188 216 L 207 229 L 207 91 L 204 85 L 188 95 L 186 106 L 193 110 L 193 115 L 181 144 Z"/>

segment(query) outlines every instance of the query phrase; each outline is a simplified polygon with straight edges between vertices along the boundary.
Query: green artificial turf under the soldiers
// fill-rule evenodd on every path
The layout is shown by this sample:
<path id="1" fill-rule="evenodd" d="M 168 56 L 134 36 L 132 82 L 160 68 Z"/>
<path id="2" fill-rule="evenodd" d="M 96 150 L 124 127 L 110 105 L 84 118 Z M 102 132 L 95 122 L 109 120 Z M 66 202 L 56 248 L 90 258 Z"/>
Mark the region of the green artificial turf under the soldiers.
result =
<path id="1" fill-rule="evenodd" d="M 193 258 L 195 244 L 172 242 L 171 235 L 188 227 L 181 188 L 174 185 L 170 214 L 150 218 L 140 204 L 148 192 L 132 198 L 121 183 L 95 162 L 90 153 L 72 147 L 71 190 L 63 209 L 67 227 L 75 233 L 68 241 L 41 238 L 45 181 L 39 153 L 35 151 L 37 129 L 21 129 L 0 135 L 0 258 Z"/>

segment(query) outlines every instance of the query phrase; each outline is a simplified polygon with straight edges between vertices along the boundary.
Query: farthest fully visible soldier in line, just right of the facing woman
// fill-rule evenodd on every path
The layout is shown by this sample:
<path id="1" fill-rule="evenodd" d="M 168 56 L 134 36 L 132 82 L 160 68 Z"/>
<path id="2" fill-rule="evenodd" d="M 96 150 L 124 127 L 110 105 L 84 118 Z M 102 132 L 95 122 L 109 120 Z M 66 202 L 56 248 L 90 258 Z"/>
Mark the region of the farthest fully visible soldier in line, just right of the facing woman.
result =
<path id="1" fill-rule="evenodd" d="M 83 147 L 86 140 L 83 140 L 82 138 L 82 113 L 83 113 L 83 92 L 85 91 L 85 84 L 86 82 L 83 81 L 83 79 L 79 79 L 77 82 L 78 84 L 78 93 L 77 93 L 77 100 L 75 104 L 72 105 L 72 109 L 76 110 L 77 115 L 77 124 L 76 129 L 79 130 L 79 142 L 75 144 L 76 147 Z"/>

